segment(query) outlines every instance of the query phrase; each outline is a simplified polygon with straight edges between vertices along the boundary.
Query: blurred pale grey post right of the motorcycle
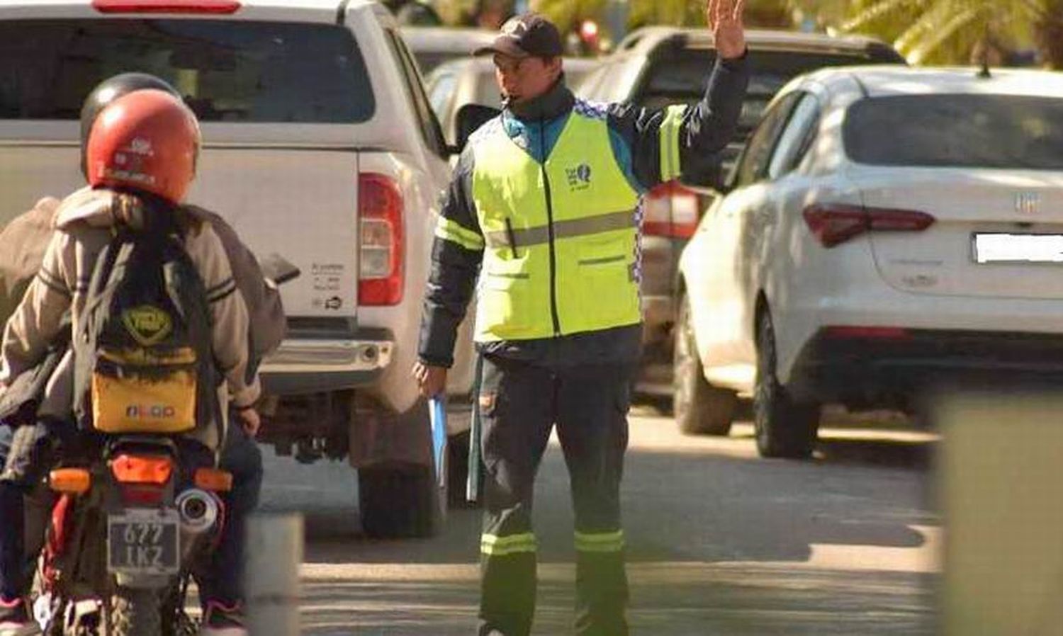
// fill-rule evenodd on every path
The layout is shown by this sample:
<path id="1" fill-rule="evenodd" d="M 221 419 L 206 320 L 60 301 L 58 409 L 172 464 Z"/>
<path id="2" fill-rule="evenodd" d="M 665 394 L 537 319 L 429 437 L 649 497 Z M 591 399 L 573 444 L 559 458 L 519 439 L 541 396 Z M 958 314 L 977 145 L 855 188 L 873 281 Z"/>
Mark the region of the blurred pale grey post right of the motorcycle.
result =
<path id="1" fill-rule="evenodd" d="M 249 633 L 298 636 L 303 516 L 252 515 L 248 519 L 246 554 L 243 581 Z"/>

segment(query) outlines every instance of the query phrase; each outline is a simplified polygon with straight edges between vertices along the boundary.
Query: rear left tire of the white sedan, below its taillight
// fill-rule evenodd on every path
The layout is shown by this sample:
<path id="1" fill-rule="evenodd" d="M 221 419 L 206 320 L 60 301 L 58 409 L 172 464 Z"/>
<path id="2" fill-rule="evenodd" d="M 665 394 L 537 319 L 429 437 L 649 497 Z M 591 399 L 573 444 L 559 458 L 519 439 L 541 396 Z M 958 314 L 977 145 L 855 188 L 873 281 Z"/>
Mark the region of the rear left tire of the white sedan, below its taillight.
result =
<path id="1" fill-rule="evenodd" d="M 757 319 L 757 384 L 753 400 L 757 451 L 764 458 L 808 459 L 820 429 L 820 406 L 797 402 L 779 384 L 772 316 Z"/>

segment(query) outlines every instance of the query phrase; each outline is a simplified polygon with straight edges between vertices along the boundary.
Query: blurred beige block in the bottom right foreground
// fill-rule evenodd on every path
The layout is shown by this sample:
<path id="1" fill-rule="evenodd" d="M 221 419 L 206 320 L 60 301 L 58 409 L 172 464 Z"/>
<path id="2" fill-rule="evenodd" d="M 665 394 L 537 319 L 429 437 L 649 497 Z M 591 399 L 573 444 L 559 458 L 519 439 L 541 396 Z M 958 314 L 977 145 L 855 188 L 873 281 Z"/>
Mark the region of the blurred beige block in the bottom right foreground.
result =
<path id="1" fill-rule="evenodd" d="M 1058 388 L 941 399 L 946 636 L 1061 634 L 1063 395 Z"/>

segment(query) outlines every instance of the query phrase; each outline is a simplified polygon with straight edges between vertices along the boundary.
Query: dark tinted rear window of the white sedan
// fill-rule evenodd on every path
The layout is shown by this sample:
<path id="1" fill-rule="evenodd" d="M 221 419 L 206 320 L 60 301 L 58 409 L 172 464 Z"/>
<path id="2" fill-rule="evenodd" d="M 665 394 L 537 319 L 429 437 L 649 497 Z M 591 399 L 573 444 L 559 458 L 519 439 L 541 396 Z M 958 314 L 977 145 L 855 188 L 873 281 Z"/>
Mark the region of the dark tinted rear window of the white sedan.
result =
<path id="1" fill-rule="evenodd" d="M 843 130 L 860 164 L 1063 170 L 1063 99 L 924 94 L 860 100 Z"/>

